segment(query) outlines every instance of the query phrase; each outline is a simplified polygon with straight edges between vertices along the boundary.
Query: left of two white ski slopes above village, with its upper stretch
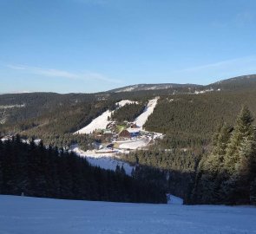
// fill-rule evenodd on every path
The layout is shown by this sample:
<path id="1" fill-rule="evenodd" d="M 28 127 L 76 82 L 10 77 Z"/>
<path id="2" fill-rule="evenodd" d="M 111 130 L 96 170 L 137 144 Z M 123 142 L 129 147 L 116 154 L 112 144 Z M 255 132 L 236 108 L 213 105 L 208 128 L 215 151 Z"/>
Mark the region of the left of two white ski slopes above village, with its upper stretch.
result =
<path id="1" fill-rule="evenodd" d="M 115 103 L 115 105 L 118 108 L 120 108 L 131 103 L 135 103 L 135 101 L 122 100 Z M 108 121 L 108 118 L 110 118 L 111 114 L 113 113 L 114 111 L 109 111 L 109 110 L 103 112 L 100 116 L 92 120 L 88 126 L 82 127 L 82 129 L 75 132 L 75 134 L 85 134 L 85 133 L 89 134 L 89 133 L 93 133 L 96 129 L 105 129 L 108 126 L 108 123 L 111 122 L 111 121 Z"/>

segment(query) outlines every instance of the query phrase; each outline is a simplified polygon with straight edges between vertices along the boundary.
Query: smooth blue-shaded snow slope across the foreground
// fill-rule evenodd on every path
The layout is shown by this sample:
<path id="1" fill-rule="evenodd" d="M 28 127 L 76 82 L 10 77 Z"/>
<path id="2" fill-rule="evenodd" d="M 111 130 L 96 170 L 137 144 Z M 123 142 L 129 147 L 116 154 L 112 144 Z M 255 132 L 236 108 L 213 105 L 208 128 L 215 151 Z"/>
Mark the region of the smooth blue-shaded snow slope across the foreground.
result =
<path id="1" fill-rule="evenodd" d="M 0 233 L 256 233 L 255 207 L 121 204 L 3 195 L 0 207 Z"/>

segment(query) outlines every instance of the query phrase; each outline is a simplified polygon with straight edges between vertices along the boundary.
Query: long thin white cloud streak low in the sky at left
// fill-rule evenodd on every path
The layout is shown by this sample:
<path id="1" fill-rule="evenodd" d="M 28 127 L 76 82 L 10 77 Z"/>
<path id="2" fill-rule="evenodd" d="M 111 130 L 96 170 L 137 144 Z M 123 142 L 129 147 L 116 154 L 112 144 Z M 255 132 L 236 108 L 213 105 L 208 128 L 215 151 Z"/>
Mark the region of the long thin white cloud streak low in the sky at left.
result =
<path id="1" fill-rule="evenodd" d="M 55 77 L 55 78 L 65 78 L 71 80 L 83 80 L 83 81 L 106 81 L 111 83 L 121 83 L 120 80 L 110 79 L 102 74 L 95 72 L 86 72 L 81 74 L 71 73 L 69 71 L 59 70 L 59 69 L 49 69 L 49 68 L 38 68 L 38 67 L 30 67 L 26 65 L 13 65 L 8 64 L 5 67 L 20 70 L 24 73 L 30 73 L 34 75 L 43 75 L 47 77 Z"/>

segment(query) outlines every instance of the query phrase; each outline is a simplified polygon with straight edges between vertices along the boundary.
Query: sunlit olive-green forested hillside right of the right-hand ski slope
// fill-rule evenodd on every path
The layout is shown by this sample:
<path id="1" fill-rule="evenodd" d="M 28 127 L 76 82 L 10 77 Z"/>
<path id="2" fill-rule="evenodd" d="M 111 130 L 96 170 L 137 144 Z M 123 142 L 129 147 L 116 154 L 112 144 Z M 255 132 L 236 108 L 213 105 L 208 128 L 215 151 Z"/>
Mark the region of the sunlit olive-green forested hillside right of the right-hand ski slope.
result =
<path id="1" fill-rule="evenodd" d="M 242 105 L 256 114 L 255 100 L 254 91 L 162 96 L 145 127 L 167 134 L 165 148 L 207 146 L 224 121 L 233 124 Z"/>

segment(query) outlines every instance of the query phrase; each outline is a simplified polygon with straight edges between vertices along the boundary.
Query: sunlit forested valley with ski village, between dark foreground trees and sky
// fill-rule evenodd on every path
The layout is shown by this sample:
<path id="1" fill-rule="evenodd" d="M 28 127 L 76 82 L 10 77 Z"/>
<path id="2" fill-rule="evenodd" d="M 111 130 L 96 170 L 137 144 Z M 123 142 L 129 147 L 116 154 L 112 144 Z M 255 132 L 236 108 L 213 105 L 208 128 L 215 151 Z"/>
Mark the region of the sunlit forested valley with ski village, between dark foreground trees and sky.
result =
<path id="1" fill-rule="evenodd" d="M 150 181 L 185 204 L 205 203 L 200 194 L 194 197 L 202 183 L 199 170 L 220 127 L 233 131 L 243 106 L 255 116 L 255 76 L 207 86 L 140 87 L 100 94 L 3 94 L 0 105 L 8 108 L 0 125 L 2 141 L 16 133 L 24 142 L 43 140 L 44 146 L 75 153 L 92 166 Z"/>

